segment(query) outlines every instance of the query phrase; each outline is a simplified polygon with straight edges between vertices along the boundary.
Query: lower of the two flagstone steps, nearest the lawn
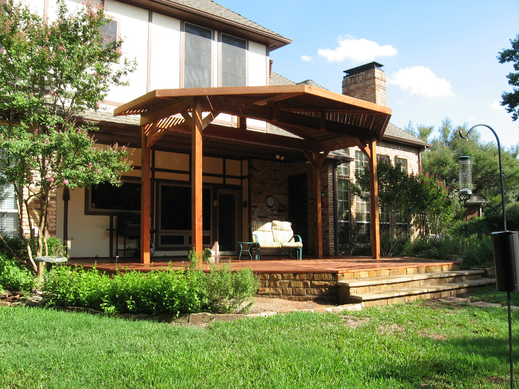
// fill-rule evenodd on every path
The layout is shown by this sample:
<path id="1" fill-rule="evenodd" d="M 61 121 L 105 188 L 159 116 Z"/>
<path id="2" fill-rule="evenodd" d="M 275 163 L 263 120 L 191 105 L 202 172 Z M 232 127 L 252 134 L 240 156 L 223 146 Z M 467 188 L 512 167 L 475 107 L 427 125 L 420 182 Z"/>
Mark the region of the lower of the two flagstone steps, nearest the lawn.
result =
<path id="1" fill-rule="evenodd" d="M 447 282 L 435 285 L 404 287 L 401 289 L 379 290 L 371 293 L 350 294 L 349 302 L 361 303 L 362 307 L 373 307 L 376 305 L 387 305 L 398 302 L 407 302 L 419 298 L 442 298 L 456 296 L 461 293 L 481 287 L 495 284 L 496 279 L 478 279 L 460 282 Z"/>

